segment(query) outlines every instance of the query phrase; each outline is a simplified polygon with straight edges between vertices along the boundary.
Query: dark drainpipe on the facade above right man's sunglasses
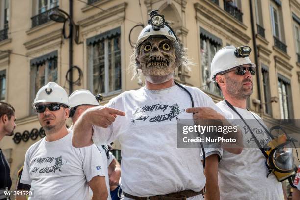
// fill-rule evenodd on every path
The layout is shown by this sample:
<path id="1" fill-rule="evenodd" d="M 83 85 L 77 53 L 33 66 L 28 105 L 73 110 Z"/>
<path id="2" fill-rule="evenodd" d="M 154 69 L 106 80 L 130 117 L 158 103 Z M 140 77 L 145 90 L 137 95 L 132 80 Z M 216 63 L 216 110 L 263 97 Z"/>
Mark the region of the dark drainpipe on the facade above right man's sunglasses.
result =
<path id="1" fill-rule="evenodd" d="M 257 45 L 256 45 L 256 36 L 255 36 L 255 26 L 254 26 L 254 17 L 253 17 L 253 8 L 252 8 L 252 0 L 249 0 L 250 4 L 250 18 L 251 18 L 251 28 L 252 28 L 252 40 L 253 40 L 253 47 L 254 47 L 254 60 L 256 64 L 256 79 L 257 79 L 257 91 L 258 91 L 258 100 L 260 100 L 259 110 L 260 114 L 262 114 L 262 100 L 261 100 L 261 90 L 260 90 L 260 64 L 258 63 L 258 53 L 257 53 Z"/>

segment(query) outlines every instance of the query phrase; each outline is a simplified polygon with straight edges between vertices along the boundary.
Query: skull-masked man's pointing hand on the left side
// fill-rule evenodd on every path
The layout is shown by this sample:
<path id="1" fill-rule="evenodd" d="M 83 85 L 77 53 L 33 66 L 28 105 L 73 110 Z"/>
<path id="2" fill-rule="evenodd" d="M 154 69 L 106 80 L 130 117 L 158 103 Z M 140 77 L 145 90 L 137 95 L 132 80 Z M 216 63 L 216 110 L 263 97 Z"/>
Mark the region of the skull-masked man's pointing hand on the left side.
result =
<path id="1" fill-rule="evenodd" d="M 125 112 L 114 108 L 96 106 L 87 109 L 83 115 L 92 125 L 107 128 L 116 120 L 117 115 L 125 116 Z"/>

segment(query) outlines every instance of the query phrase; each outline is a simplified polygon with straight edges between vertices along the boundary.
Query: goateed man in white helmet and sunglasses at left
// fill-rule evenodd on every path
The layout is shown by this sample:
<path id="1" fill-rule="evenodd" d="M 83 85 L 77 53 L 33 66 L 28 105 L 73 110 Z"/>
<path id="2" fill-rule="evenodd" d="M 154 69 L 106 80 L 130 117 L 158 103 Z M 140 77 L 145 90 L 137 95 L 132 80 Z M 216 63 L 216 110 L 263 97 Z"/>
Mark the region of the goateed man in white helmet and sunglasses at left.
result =
<path id="1" fill-rule="evenodd" d="M 29 200 L 106 200 L 103 161 L 95 145 L 72 146 L 67 92 L 54 82 L 40 88 L 32 106 L 46 137 L 26 152 L 21 183 L 31 186 Z M 17 197 L 19 200 L 25 196 Z"/>

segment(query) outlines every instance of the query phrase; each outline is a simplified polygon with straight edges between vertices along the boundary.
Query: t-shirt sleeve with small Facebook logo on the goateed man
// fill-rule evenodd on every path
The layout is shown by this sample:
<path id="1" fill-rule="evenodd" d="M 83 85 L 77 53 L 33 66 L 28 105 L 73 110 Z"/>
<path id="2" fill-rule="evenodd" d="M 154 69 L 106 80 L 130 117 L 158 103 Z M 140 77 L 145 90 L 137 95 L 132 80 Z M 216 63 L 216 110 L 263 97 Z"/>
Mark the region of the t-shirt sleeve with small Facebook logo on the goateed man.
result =
<path id="1" fill-rule="evenodd" d="M 95 176 L 105 176 L 103 158 L 97 147 L 93 144 L 81 149 L 83 158 L 83 172 L 88 182 Z"/>

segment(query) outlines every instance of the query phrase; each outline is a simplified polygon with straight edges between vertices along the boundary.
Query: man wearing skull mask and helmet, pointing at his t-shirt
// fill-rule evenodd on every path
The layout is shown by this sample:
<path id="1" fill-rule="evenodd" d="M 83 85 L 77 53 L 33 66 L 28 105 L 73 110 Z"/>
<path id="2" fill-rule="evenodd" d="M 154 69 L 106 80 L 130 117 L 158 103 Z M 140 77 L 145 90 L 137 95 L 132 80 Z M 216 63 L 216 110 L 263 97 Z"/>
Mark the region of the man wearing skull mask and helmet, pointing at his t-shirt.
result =
<path id="1" fill-rule="evenodd" d="M 134 72 L 142 72 L 145 87 L 123 92 L 105 106 L 83 113 L 74 125 L 73 145 L 120 142 L 125 200 L 158 200 L 157 195 L 202 200 L 205 176 L 200 150 L 176 148 L 176 119 L 224 119 L 222 112 L 200 89 L 183 86 L 194 98 L 195 107 L 190 108 L 189 94 L 174 83 L 175 68 L 188 60 L 168 25 L 146 26 L 134 57 Z"/>

